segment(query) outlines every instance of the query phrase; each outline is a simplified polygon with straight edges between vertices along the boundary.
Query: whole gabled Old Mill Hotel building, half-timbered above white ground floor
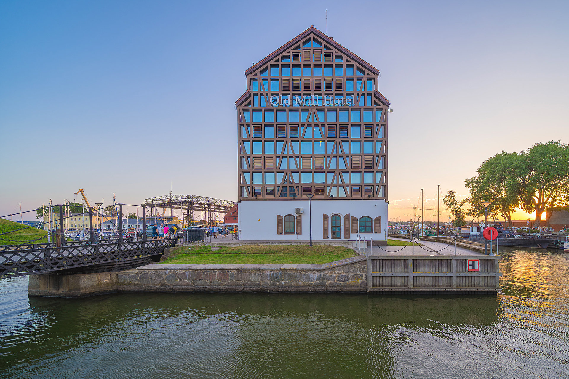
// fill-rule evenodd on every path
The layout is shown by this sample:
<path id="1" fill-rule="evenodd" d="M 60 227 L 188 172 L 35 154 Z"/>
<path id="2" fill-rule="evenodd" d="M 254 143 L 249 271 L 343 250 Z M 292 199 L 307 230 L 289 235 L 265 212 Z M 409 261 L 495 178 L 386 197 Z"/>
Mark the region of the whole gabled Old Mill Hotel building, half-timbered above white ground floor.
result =
<path id="1" fill-rule="evenodd" d="M 236 102 L 240 239 L 386 240 L 379 70 L 311 26 L 246 70 Z"/>

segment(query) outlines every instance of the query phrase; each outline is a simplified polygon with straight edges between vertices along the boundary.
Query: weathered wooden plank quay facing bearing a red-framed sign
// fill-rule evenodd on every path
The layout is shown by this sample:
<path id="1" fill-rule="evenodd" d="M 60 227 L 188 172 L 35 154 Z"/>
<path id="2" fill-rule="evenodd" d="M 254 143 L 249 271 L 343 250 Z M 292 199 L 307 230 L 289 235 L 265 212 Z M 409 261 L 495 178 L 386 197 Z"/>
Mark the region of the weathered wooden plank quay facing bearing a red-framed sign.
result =
<path id="1" fill-rule="evenodd" d="M 496 293 L 499 260 L 487 255 L 369 256 L 368 291 Z"/>

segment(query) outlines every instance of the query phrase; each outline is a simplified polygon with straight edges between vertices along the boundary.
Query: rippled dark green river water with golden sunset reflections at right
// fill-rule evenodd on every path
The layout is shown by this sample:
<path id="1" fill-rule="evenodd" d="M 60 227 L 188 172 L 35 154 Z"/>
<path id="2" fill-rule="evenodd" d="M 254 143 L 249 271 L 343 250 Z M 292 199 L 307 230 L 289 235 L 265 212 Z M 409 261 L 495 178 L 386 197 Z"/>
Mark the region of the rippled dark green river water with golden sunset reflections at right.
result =
<path id="1" fill-rule="evenodd" d="M 497 296 L 58 299 L 1 280 L 0 377 L 569 377 L 569 254 L 500 250 Z"/>

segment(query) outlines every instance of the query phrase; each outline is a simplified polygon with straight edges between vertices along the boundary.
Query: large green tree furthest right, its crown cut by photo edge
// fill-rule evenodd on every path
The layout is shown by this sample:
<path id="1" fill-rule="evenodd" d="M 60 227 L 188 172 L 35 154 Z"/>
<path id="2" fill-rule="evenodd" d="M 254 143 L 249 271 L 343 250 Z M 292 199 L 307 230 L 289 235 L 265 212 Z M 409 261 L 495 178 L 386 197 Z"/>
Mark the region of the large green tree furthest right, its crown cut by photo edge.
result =
<path id="1" fill-rule="evenodd" d="M 540 142 L 520 155 L 523 164 L 515 173 L 521 185 L 521 206 L 527 213 L 535 211 L 537 228 L 547 207 L 569 201 L 569 145 L 560 140 Z"/>

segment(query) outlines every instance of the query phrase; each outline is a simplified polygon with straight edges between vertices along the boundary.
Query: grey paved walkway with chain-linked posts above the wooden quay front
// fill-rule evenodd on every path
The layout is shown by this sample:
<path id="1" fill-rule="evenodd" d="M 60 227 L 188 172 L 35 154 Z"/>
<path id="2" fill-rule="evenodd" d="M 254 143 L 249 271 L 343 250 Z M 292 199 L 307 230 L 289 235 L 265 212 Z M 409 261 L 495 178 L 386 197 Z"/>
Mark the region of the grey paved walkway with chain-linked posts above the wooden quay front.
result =
<path id="1" fill-rule="evenodd" d="M 408 239 L 402 238 L 389 238 L 392 240 L 410 242 Z M 415 240 L 417 242 L 417 240 Z M 372 248 L 372 255 L 455 255 L 455 246 L 453 244 L 446 244 L 442 242 L 419 241 L 421 246 L 415 244 L 413 247 L 409 246 L 374 246 Z M 362 254 L 369 255 L 369 247 L 365 249 L 357 249 Z M 456 247 L 456 255 L 484 255 L 483 253 L 465 249 L 463 247 Z"/>

